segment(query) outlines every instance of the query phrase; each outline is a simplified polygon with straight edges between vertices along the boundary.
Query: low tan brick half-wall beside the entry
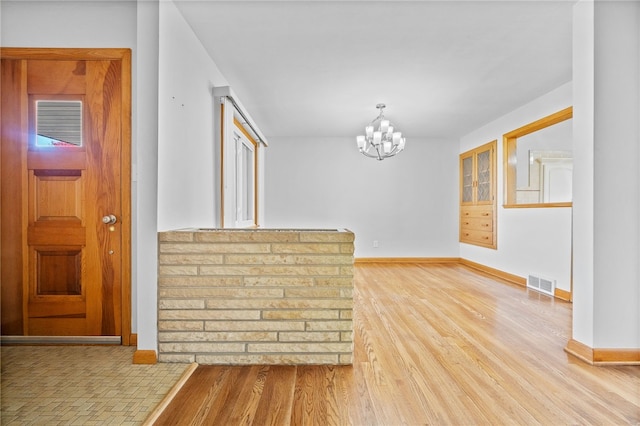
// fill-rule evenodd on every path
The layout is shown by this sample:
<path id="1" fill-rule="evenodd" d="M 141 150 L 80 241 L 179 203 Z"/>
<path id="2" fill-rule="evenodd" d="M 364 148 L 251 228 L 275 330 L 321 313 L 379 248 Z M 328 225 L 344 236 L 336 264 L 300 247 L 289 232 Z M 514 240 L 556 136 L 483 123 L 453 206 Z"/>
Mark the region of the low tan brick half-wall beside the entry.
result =
<path id="1" fill-rule="evenodd" d="M 351 364 L 348 230 L 159 233 L 158 359 Z"/>

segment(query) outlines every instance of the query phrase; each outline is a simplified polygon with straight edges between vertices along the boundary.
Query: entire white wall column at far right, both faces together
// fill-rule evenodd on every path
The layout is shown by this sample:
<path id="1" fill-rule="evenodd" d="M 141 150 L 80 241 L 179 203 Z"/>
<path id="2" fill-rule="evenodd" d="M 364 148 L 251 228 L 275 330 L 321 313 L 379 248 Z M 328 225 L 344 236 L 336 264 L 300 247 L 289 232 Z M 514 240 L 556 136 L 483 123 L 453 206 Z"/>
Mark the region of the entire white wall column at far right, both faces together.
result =
<path id="1" fill-rule="evenodd" d="M 580 2 L 574 52 L 581 155 L 576 173 L 574 340 L 640 348 L 640 3 Z"/>

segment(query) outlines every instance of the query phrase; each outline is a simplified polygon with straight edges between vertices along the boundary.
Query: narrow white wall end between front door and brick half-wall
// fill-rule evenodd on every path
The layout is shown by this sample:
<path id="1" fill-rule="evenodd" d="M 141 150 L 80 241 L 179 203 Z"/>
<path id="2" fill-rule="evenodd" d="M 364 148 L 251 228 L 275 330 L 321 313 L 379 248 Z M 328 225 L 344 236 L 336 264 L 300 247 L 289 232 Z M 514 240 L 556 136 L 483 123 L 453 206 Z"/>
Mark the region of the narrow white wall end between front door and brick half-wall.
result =
<path id="1" fill-rule="evenodd" d="M 138 348 L 157 347 L 158 1 L 140 1 L 133 64 L 132 331 Z M 137 76 L 144 78 L 137 78 Z"/>

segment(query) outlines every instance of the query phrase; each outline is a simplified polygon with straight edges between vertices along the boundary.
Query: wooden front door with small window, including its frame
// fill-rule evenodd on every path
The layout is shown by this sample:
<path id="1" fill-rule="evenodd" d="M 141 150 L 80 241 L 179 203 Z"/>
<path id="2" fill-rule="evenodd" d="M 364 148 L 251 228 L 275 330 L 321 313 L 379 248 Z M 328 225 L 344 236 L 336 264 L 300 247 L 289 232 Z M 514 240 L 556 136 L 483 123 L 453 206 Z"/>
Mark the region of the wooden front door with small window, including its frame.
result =
<path id="1" fill-rule="evenodd" d="M 3 335 L 128 344 L 128 75 L 125 49 L 2 49 Z"/>

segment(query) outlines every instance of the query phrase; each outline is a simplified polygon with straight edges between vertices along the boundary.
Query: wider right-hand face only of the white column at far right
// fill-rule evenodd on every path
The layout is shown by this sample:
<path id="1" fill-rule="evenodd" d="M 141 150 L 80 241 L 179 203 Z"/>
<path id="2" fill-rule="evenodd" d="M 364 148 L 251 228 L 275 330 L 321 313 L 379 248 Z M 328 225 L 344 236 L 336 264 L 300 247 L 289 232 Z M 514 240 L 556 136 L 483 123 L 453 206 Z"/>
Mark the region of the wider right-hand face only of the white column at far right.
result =
<path id="1" fill-rule="evenodd" d="M 596 2 L 595 18 L 594 345 L 640 348 L 640 3 Z"/>

